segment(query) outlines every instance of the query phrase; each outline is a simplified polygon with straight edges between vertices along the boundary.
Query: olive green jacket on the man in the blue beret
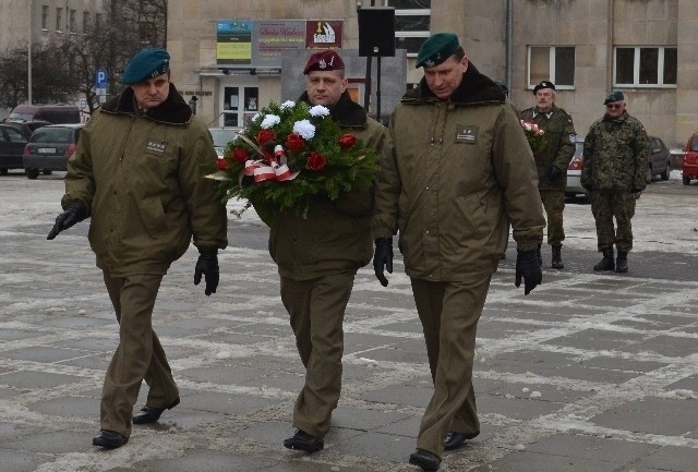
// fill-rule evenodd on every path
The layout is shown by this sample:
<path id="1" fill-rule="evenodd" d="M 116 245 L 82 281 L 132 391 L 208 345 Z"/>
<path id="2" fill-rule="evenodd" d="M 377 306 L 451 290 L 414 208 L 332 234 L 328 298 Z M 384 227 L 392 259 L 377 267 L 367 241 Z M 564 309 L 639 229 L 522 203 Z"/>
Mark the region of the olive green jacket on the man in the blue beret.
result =
<path id="1" fill-rule="evenodd" d="M 226 207 L 202 168 L 216 159 L 210 134 L 170 84 L 145 112 L 128 87 L 83 129 L 68 160 L 63 208 L 88 208 L 97 266 L 116 275 L 165 274 L 194 240 L 227 245 Z"/>

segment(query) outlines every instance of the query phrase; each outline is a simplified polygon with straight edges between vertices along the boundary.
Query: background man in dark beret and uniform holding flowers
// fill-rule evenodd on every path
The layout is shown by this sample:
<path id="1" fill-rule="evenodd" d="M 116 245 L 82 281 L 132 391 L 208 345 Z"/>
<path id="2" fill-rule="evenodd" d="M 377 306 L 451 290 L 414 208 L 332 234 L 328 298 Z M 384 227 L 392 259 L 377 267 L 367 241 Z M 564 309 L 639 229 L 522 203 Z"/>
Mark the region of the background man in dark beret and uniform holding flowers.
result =
<path id="1" fill-rule="evenodd" d="M 575 125 L 571 117 L 555 105 L 555 84 L 543 81 L 533 88 L 535 107 L 521 111 L 521 120 L 538 124 L 543 130 L 545 145 L 534 149 L 538 169 L 538 191 L 547 219 L 547 244 L 553 247 L 552 266 L 565 267 L 562 247 L 565 239 L 563 210 L 565 209 L 565 183 L 567 166 L 575 155 Z M 540 246 L 538 258 L 542 264 Z"/>

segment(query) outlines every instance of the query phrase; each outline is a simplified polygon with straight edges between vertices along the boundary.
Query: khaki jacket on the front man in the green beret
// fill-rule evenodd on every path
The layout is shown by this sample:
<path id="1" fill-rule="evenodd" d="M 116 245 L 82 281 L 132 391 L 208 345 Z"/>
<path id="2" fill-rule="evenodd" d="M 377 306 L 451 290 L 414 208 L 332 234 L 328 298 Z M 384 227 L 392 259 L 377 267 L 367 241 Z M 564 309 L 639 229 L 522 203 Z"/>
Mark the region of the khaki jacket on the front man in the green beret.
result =
<path id="1" fill-rule="evenodd" d="M 394 110 L 376 183 L 376 238 L 399 234 L 408 276 L 489 277 L 509 222 L 520 250 L 535 250 L 545 219 L 533 155 L 518 112 L 470 63 L 450 99 L 424 78 Z"/>

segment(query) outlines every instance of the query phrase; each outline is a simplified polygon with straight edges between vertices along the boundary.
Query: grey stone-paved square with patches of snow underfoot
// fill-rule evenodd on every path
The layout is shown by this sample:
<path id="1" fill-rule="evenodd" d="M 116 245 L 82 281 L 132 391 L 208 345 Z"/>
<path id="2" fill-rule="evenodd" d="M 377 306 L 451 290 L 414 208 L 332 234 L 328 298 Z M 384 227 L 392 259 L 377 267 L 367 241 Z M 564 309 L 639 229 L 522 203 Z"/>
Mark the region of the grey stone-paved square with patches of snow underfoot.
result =
<path id="1" fill-rule="evenodd" d="M 654 207 L 645 202 L 645 213 Z M 104 451 L 92 437 L 117 325 L 87 226 L 48 242 L 56 208 L 37 204 L 31 217 L 16 208 L 0 225 L 1 472 L 419 471 L 407 459 L 431 378 L 399 257 L 387 289 L 369 268 L 357 277 L 342 397 L 325 450 L 306 456 L 281 446 L 303 368 L 266 229 L 252 214 L 231 217 L 218 292 L 193 286 L 192 249 L 156 305 L 181 404 Z M 570 206 L 575 238 L 586 238 L 575 215 L 588 210 Z M 630 259 L 629 274 L 600 275 L 588 265 L 593 244 L 570 239 L 568 267 L 544 270 L 528 296 L 514 287 L 509 247 L 479 325 L 482 434 L 446 453 L 442 471 L 697 470 L 698 278 L 677 269 L 695 255 L 664 247 L 661 229 L 642 240 L 658 243 Z"/>

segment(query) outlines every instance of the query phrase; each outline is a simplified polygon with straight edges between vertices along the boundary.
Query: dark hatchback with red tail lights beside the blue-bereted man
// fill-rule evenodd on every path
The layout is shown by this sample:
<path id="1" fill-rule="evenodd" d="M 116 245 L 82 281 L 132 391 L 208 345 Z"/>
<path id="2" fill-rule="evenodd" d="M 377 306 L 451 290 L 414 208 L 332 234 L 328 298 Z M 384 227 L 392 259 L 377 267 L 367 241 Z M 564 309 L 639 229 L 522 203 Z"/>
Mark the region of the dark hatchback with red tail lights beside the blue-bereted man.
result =
<path id="1" fill-rule="evenodd" d="M 24 147 L 24 171 L 29 179 L 40 172 L 67 170 L 68 158 L 75 152 L 83 124 L 49 124 L 39 128 Z"/>

